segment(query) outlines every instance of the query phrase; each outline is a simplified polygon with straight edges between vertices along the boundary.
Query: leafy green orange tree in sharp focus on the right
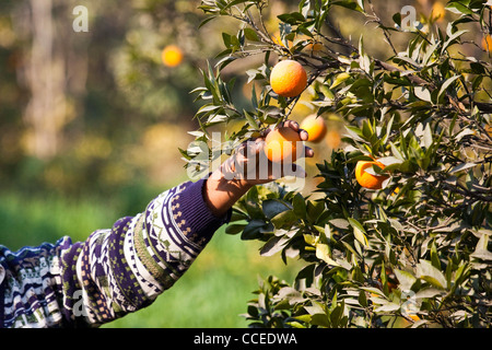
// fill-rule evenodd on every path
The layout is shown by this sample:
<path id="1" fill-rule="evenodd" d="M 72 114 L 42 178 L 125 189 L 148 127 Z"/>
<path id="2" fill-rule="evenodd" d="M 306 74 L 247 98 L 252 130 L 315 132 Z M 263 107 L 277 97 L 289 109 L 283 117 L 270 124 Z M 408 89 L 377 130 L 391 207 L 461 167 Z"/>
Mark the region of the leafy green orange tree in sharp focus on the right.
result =
<path id="1" fill-rule="evenodd" d="M 280 39 L 266 24 L 267 1 L 200 8 L 210 15 L 203 25 L 230 16 L 238 26 L 222 33 L 225 49 L 194 91 L 202 106 L 197 143 L 181 150 L 189 166 L 208 171 L 224 152 L 211 137 L 216 125 L 242 126 L 226 136 L 233 152 L 291 116 L 298 96 L 280 96 L 269 82 L 279 60 L 306 69 L 318 116 L 345 122 L 343 148 L 311 174 L 320 179 L 313 194 L 272 183 L 234 208 L 227 233 L 263 242 L 261 256 L 302 262 L 292 283 L 259 283 L 245 314 L 250 326 L 490 327 L 492 65 L 480 47 L 492 31 L 490 1 L 449 1 L 449 22 L 437 25 L 432 15 L 383 15 L 376 1 L 301 0 L 277 15 Z M 375 24 L 389 55 L 368 52 L 362 35 L 349 39 L 333 13 Z M 221 74 L 248 59 L 254 68 Z M 242 74 L 257 82 L 249 104 L 234 100 Z M 206 160 L 200 142 L 210 145 Z M 384 166 L 365 172 L 385 176 L 382 188 L 361 187 L 356 163 L 376 159 Z"/>

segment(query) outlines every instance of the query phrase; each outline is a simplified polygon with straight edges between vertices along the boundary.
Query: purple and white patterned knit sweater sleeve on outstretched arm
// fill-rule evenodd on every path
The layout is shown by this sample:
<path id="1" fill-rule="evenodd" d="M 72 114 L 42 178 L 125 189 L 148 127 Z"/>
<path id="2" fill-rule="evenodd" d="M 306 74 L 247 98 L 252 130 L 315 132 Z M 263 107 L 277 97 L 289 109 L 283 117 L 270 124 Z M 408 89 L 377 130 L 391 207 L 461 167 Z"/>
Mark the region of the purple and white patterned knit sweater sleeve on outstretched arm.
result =
<path id="1" fill-rule="evenodd" d="M 210 212 L 203 184 L 168 189 L 85 242 L 0 246 L 0 328 L 99 326 L 149 306 L 230 220 Z"/>

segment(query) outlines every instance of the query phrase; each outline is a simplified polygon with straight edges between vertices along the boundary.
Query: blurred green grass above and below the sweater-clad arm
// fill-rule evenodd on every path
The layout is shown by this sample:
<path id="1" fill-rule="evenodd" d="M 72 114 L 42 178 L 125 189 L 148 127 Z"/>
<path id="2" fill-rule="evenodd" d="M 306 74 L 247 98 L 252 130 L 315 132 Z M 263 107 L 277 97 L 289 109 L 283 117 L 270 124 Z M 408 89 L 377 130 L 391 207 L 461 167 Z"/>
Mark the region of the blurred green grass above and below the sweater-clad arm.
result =
<path id="1" fill-rule="evenodd" d="M 113 198 L 3 191 L 0 201 L 0 244 L 16 250 L 63 235 L 83 241 L 97 229 L 110 228 L 124 215 L 143 211 L 159 192 L 128 188 Z M 278 256 L 260 257 L 258 242 L 244 242 L 222 226 L 190 269 L 149 307 L 104 325 L 105 328 L 237 328 L 247 327 L 239 314 L 255 298 L 258 278 L 276 275 L 292 281 L 295 261 L 285 266 Z"/>

